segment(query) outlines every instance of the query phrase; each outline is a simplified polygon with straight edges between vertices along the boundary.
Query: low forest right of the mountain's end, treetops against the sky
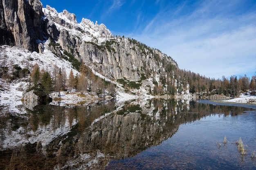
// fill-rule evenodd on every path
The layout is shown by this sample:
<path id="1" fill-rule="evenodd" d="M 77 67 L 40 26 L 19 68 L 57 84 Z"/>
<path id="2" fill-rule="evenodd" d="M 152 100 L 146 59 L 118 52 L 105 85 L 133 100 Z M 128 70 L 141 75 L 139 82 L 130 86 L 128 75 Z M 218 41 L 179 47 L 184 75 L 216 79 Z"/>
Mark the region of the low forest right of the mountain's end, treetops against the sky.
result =
<path id="1" fill-rule="evenodd" d="M 211 79 L 185 70 L 177 70 L 176 74 L 179 76 L 177 82 L 182 84 L 181 88 L 186 88 L 188 84 L 190 93 L 224 94 L 231 97 L 247 91 L 252 95 L 256 94 L 256 76 L 249 78 L 247 75 L 239 77 L 232 75 L 229 79 L 225 76 L 222 76 L 222 79 Z"/>

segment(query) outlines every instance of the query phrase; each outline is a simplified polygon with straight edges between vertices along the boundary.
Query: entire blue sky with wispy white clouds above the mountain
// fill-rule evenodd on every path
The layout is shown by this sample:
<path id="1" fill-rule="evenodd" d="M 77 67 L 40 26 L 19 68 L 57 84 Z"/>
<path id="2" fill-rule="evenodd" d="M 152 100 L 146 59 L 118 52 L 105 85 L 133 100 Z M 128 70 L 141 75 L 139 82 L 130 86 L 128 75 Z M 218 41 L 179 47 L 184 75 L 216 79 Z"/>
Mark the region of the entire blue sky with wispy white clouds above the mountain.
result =
<path id="1" fill-rule="evenodd" d="M 211 78 L 256 74 L 256 0 L 41 0 Z"/>

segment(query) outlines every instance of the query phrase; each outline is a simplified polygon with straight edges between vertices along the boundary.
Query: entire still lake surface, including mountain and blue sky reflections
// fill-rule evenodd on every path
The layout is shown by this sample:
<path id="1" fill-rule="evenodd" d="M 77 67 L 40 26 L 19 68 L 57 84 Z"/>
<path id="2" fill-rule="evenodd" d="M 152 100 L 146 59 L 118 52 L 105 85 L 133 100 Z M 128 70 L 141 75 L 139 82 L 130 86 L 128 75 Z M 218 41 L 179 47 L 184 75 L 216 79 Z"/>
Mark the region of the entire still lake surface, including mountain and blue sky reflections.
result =
<path id="1" fill-rule="evenodd" d="M 174 99 L 0 106 L 0 169 L 256 169 L 254 151 L 255 106 Z"/>

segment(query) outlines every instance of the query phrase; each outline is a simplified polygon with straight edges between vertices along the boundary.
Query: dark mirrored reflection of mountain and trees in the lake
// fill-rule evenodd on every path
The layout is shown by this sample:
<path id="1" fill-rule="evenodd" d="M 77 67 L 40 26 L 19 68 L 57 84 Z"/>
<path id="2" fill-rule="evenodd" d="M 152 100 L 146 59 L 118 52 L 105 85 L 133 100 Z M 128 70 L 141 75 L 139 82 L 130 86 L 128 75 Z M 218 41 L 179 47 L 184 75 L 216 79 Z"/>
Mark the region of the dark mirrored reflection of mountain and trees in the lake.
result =
<path id="1" fill-rule="evenodd" d="M 105 101 L 88 106 L 0 106 L 3 169 L 104 169 L 173 136 L 180 124 L 249 108 L 174 99 Z"/>

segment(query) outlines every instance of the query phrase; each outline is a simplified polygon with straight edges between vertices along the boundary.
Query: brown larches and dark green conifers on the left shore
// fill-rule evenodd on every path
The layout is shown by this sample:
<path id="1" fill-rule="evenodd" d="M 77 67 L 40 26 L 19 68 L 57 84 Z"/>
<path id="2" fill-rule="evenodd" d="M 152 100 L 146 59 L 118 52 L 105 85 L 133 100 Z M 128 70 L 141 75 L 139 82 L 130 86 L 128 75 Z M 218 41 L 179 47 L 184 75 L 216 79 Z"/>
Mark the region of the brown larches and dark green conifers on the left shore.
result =
<path id="1" fill-rule="evenodd" d="M 30 73 L 29 89 L 34 90 L 34 93 L 39 96 L 41 101 L 49 99 L 49 94 L 52 92 L 61 91 L 77 91 L 83 93 L 91 92 L 104 97 L 105 95 L 114 96 L 115 85 L 97 75 L 94 75 L 88 66 L 81 64 L 79 74 L 74 75 L 72 69 L 67 76 L 65 69 L 54 66 L 54 69 L 49 73 L 40 69 L 38 64 L 35 64 Z"/>

